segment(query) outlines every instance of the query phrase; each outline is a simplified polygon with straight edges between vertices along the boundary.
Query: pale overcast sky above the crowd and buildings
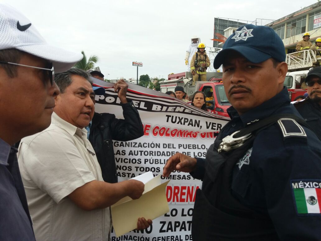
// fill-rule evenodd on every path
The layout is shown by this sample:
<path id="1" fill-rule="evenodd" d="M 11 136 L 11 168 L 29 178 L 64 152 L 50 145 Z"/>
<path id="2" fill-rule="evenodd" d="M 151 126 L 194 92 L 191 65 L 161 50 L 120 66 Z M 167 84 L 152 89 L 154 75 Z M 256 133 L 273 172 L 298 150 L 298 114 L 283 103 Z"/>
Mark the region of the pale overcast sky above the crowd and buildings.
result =
<path id="1" fill-rule="evenodd" d="M 0 0 L 22 12 L 51 45 L 97 55 L 107 79 L 185 72 L 192 36 L 213 46 L 214 18 L 277 20 L 317 0 Z M 271 21 L 272 22 L 272 21 Z"/>

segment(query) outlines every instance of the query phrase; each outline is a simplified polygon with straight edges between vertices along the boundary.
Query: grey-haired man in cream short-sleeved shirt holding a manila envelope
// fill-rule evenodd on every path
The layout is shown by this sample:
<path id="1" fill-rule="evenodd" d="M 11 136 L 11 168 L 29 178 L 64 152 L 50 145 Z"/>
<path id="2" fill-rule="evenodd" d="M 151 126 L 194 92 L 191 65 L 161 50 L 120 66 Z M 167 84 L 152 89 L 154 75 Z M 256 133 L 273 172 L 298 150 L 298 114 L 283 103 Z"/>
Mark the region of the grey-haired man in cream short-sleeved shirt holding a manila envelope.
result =
<path id="1" fill-rule="evenodd" d="M 36 239 L 110 240 L 108 207 L 125 196 L 139 198 L 144 184 L 103 181 L 84 128 L 94 114 L 89 74 L 70 69 L 56 74 L 55 81 L 61 94 L 55 97 L 51 125 L 23 138 L 18 152 Z M 139 219 L 137 228 L 151 223 Z"/>

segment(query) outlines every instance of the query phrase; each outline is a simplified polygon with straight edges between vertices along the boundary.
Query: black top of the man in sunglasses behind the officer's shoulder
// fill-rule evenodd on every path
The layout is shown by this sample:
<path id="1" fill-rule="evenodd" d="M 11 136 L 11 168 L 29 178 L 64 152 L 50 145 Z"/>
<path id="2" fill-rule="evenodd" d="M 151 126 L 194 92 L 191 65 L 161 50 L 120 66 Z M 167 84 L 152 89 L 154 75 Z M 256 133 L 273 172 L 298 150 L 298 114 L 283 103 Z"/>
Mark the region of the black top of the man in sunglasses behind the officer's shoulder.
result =
<path id="1" fill-rule="evenodd" d="M 321 106 L 307 97 L 304 101 L 294 103 L 294 107 L 321 140 Z"/>

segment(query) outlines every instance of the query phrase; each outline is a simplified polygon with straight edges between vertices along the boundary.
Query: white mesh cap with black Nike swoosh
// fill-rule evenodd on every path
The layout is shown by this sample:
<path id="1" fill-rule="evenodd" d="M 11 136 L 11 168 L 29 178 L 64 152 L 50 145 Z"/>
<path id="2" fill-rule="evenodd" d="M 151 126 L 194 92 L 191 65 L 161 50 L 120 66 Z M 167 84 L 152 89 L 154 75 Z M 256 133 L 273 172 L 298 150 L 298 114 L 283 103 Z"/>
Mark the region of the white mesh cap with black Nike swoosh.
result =
<path id="1" fill-rule="evenodd" d="M 52 62 L 55 72 L 64 72 L 83 58 L 47 44 L 34 25 L 11 6 L 0 4 L 0 50 L 19 49 Z"/>

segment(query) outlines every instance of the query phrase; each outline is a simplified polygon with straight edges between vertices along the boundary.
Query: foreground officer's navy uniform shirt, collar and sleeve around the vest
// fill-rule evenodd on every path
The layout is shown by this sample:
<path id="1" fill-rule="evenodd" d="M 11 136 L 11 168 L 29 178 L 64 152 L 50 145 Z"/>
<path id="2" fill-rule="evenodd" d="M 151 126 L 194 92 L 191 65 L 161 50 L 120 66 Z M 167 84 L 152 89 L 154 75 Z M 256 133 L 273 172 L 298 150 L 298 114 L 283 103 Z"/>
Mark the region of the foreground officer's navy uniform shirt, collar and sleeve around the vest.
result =
<path id="1" fill-rule="evenodd" d="M 230 107 L 231 121 L 222 137 L 251 121 L 294 114 L 284 88 L 265 103 L 242 114 Z M 267 213 L 281 240 L 321 240 L 321 141 L 308 128 L 306 137 L 283 138 L 279 124 L 258 133 L 253 147 L 235 165 L 231 192 L 242 204 Z M 197 158 L 194 178 L 203 179 L 205 159 Z M 312 193 L 312 194 L 311 194 Z"/>

